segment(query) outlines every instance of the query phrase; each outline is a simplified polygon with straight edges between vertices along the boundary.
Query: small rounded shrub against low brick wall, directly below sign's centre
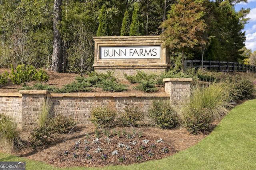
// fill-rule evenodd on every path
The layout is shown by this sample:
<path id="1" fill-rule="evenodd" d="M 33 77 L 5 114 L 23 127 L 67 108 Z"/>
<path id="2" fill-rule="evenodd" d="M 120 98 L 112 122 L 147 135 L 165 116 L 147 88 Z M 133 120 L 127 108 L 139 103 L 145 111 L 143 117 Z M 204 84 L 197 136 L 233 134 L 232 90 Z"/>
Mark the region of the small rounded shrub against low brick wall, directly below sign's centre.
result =
<path id="1" fill-rule="evenodd" d="M 144 113 L 138 106 L 130 104 L 125 106 L 124 112 L 120 113 L 120 121 L 126 126 L 137 126 L 137 123 L 144 117 Z"/>

